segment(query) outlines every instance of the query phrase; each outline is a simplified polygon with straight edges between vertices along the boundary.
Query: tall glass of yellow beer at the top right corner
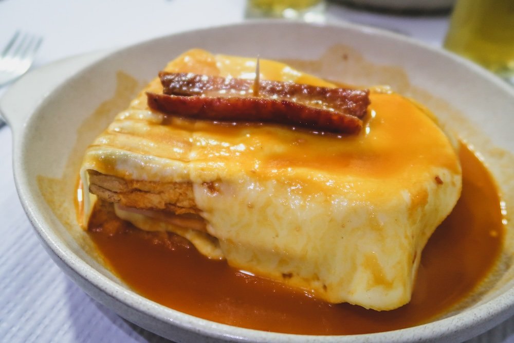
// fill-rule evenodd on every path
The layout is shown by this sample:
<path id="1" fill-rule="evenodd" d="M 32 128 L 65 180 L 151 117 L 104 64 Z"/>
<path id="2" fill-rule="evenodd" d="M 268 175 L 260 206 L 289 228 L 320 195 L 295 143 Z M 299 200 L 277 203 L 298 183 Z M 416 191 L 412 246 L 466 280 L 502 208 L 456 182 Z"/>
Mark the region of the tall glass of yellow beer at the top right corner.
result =
<path id="1" fill-rule="evenodd" d="M 458 0 L 444 46 L 512 82 L 514 0 Z"/>

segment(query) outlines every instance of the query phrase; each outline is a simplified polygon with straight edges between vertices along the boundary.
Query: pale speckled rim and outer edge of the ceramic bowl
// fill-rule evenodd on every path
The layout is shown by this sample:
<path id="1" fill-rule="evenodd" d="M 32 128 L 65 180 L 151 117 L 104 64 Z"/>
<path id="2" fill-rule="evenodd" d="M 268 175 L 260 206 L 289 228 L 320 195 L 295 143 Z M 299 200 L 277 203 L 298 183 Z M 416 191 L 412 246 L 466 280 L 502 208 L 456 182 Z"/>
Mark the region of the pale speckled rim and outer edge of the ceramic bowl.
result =
<path id="1" fill-rule="evenodd" d="M 412 38 L 404 37 L 400 34 L 393 32 L 384 31 L 377 28 L 370 28 L 362 25 L 356 25 L 351 23 L 338 23 L 338 24 L 305 24 L 300 22 L 286 22 L 277 20 L 259 20 L 249 21 L 236 24 L 219 25 L 209 28 L 199 28 L 190 31 L 178 32 L 163 37 L 154 38 L 151 40 L 142 41 L 136 44 L 128 45 L 120 49 L 116 49 L 109 52 L 103 58 L 94 61 L 87 65 L 85 68 L 80 70 L 77 74 L 71 75 L 69 78 L 62 81 L 60 85 L 54 87 L 51 94 L 45 97 L 45 99 L 39 103 L 26 118 L 24 125 L 20 125 L 22 132 L 16 132 L 13 130 L 13 171 L 14 179 L 17 192 L 22 203 L 22 206 L 27 213 L 27 216 L 34 227 L 36 233 L 45 248 L 51 252 L 51 256 L 54 259 L 60 260 L 68 266 L 74 273 L 79 275 L 81 278 L 86 280 L 87 283 L 94 286 L 97 290 L 111 296 L 129 308 L 149 316 L 151 318 L 158 319 L 160 322 L 168 322 L 171 326 L 175 326 L 179 329 L 192 331 L 200 335 L 205 335 L 214 339 L 224 340 L 251 340 L 251 341 L 276 341 L 276 342 L 295 342 L 295 341 L 312 341 L 312 342 L 350 342 L 365 340 L 366 342 L 387 342 L 387 341 L 412 341 L 413 339 L 418 341 L 432 340 L 432 339 L 452 339 L 452 338 L 470 338 L 475 334 L 484 332 L 487 329 L 492 328 L 495 324 L 498 324 L 502 320 L 508 318 L 508 316 L 514 314 L 514 288 L 510 288 L 503 294 L 489 300 L 486 303 L 475 306 L 471 309 L 464 310 L 461 313 L 452 315 L 447 318 L 431 321 L 419 326 L 409 327 L 405 329 L 398 329 L 387 332 L 371 333 L 371 334 L 358 334 L 358 335 L 335 335 L 335 336 L 324 336 L 324 335 L 297 335 L 297 334 L 285 334 L 277 332 L 267 332 L 254 329 L 246 329 L 241 327 L 235 327 L 228 324 L 222 324 L 213 322 L 207 319 L 195 317 L 180 311 L 167 308 L 164 305 L 158 304 L 152 300 L 149 300 L 130 288 L 116 283 L 113 280 L 108 279 L 102 275 L 93 266 L 82 260 L 78 255 L 63 244 L 56 233 L 49 227 L 49 223 L 45 221 L 42 216 L 43 209 L 39 209 L 35 204 L 34 195 L 30 192 L 28 185 L 28 174 L 25 172 L 25 165 L 23 157 L 24 150 L 27 149 L 25 142 L 27 141 L 27 127 L 33 122 L 34 118 L 37 117 L 37 113 L 51 100 L 57 96 L 60 89 L 66 84 L 80 78 L 83 73 L 86 73 L 89 68 L 94 68 L 98 63 L 106 59 L 120 58 L 123 54 L 130 52 L 131 49 L 139 49 L 145 44 L 152 44 L 159 40 L 167 40 L 172 37 L 177 37 L 183 34 L 202 34 L 206 31 L 219 30 L 219 29 L 233 29 L 237 30 L 241 27 L 256 26 L 260 25 L 277 25 L 281 26 L 316 26 L 329 29 L 338 30 L 350 30 L 359 31 L 360 33 L 367 33 L 373 35 L 380 35 L 381 37 L 392 39 L 395 41 L 401 41 L 408 45 L 414 44 L 417 47 L 428 49 L 434 53 L 444 56 L 444 58 L 451 59 L 458 63 L 466 65 L 475 74 L 478 74 L 484 80 L 490 83 L 494 83 L 496 86 L 503 88 L 504 91 L 514 97 L 514 89 L 508 87 L 503 81 L 485 69 L 464 60 L 461 57 L 453 55 L 448 51 L 438 49 L 430 46 L 423 42 L 416 41 Z M 58 263 L 60 264 L 60 263 Z M 61 265 L 60 265 L 61 266 Z M 62 267 L 62 266 L 61 266 Z M 65 270 L 66 272 L 66 270 Z M 81 285 L 82 288 L 84 288 Z M 86 293 L 90 294 L 86 291 Z M 97 299 L 99 300 L 99 299 Z M 103 304 L 104 301 L 99 300 Z M 107 305 L 109 308 L 113 306 Z M 118 313 L 123 316 L 123 314 Z M 480 326 L 482 329 L 478 329 Z"/>

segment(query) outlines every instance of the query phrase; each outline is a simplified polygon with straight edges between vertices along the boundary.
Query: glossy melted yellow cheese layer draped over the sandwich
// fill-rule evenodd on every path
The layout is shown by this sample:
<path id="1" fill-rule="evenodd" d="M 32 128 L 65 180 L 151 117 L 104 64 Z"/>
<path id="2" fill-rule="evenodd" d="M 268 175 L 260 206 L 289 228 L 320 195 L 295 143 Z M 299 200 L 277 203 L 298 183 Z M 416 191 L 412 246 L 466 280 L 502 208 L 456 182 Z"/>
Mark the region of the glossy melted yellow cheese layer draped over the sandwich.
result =
<path id="1" fill-rule="evenodd" d="M 255 60 L 191 50 L 165 70 L 253 79 Z M 260 70 L 333 86 L 278 62 L 261 60 Z M 160 82 L 145 91 L 161 93 Z M 165 118 L 142 92 L 88 148 L 82 175 L 190 180 L 229 264 L 327 301 L 394 309 L 410 300 L 421 250 L 460 195 L 461 169 L 420 106 L 370 97 L 361 133 L 335 136 Z"/>

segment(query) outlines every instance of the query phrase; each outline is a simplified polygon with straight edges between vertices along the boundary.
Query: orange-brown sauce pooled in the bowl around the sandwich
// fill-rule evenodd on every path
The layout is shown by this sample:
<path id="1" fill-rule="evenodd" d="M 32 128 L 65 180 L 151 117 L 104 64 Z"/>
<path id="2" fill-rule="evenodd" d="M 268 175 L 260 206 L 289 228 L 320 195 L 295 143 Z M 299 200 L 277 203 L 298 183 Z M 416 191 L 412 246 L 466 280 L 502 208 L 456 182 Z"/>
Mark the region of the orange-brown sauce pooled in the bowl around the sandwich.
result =
<path id="1" fill-rule="evenodd" d="M 464 145 L 463 190 L 423 251 L 412 300 L 387 312 L 329 304 L 302 290 L 200 255 L 187 241 L 150 233 L 97 206 L 89 234 L 106 264 L 142 296 L 191 315 L 265 331 L 341 335 L 415 326 L 447 312 L 487 276 L 504 236 L 500 197 L 481 161 Z"/>

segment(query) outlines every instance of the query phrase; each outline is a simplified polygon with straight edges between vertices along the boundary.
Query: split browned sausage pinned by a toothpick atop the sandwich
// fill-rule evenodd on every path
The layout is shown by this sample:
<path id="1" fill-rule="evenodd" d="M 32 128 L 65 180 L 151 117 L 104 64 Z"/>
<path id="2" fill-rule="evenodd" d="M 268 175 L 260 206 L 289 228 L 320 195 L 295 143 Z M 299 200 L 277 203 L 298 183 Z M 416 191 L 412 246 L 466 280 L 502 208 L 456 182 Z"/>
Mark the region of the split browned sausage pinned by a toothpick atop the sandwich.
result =
<path id="1" fill-rule="evenodd" d="M 369 91 L 279 81 L 159 73 L 164 94 L 146 93 L 151 109 L 192 119 L 267 122 L 313 131 L 358 133 Z"/>

